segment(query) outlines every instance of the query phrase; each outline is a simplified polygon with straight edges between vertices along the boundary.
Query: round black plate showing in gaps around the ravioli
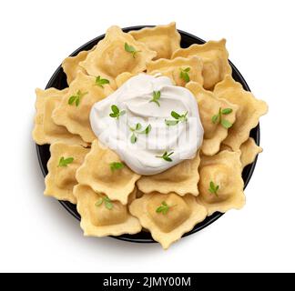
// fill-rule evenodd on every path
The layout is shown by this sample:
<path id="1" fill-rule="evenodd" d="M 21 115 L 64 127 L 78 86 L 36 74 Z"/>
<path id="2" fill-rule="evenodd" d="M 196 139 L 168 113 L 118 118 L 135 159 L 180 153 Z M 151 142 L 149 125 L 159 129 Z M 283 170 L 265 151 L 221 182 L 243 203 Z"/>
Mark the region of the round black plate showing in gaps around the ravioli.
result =
<path id="1" fill-rule="evenodd" d="M 126 28 L 123 28 L 123 31 L 128 32 L 130 30 L 138 30 L 138 29 L 141 29 L 141 28 L 147 27 L 147 26 L 150 27 L 151 25 L 139 25 L 139 26 L 126 27 Z M 181 47 L 188 47 L 189 45 L 192 45 L 192 44 L 199 44 L 200 45 L 200 44 L 205 43 L 204 40 L 198 38 L 195 35 L 190 35 L 184 31 L 181 31 L 181 30 L 178 30 L 178 32 L 181 35 Z M 77 55 L 80 51 L 91 49 L 94 45 L 97 45 L 97 42 L 100 41 L 101 39 L 103 39 L 104 37 L 105 37 L 105 35 L 97 36 L 95 39 L 89 41 L 85 45 L 82 45 L 81 47 L 76 49 L 76 51 L 71 56 Z M 229 64 L 232 67 L 233 78 L 236 81 L 238 81 L 241 85 L 243 85 L 245 90 L 250 91 L 249 86 L 247 85 L 243 76 L 240 75 L 239 70 L 236 68 L 236 66 L 233 65 L 231 62 L 229 62 Z M 67 87 L 66 75 L 65 75 L 61 66 L 58 66 L 55 74 L 52 75 L 52 77 L 50 78 L 48 84 L 46 85 L 46 89 L 49 87 L 56 87 L 57 89 L 64 89 Z M 255 128 L 253 128 L 251 130 L 250 136 L 253 137 L 254 140 L 256 141 L 256 144 L 259 145 L 259 125 L 257 125 Z M 42 173 L 44 176 L 46 176 L 46 174 L 48 172 L 46 164 L 47 164 L 47 161 L 50 157 L 49 146 L 48 145 L 45 145 L 45 146 L 36 145 L 36 152 L 37 152 L 37 156 L 38 156 L 39 164 L 41 166 Z M 243 170 L 242 177 L 243 177 L 243 180 L 245 183 L 244 188 L 246 188 L 246 186 L 248 185 L 249 179 L 254 172 L 256 161 L 257 161 L 257 158 L 255 159 L 254 163 L 252 163 L 249 166 L 246 166 Z M 78 219 L 78 220 L 81 219 L 79 214 L 76 212 L 75 205 L 73 205 L 69 202 L 66 202 L 66 201 L 59 201 L 59 202 L 62 204 L 62 206 L 64 206 L 66 208 L 66 210 L 72 216 L 75 216 L 76 219 Z M 192 235 L 192 234 L 198 232 L 199 230 L 201 230 L 202 228 L 209 226 L 214 221 L 219 219 L 219 217 L 222 215 L 223 215 L 222 213 L 216 212 L 212 216 L 208 216 L 203 222 L 199 223 L 197 226 L 195 226 L 190 232 L 188 232 L 184 236 Z M 137 235 L 123 235 L 123 236 L 112 236 L 112 237 L 120 239 L 120 240 L 126 240 L 129 242 L 136 242 L 136 243 L 154 243 L 155 242 L 153 240 L 153 238 L 150 236 L 150 234 L 147 232 L 141 232 Z"/>

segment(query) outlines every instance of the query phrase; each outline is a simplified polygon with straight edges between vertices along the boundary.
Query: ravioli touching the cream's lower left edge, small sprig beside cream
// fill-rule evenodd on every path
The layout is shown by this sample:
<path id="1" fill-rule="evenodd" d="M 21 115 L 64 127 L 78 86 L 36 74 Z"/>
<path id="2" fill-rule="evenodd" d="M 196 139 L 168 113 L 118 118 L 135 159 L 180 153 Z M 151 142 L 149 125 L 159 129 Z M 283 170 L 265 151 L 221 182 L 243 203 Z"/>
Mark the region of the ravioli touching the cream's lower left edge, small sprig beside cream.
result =
<path id="1" fill-rule="evenodd" d="M 110 164 L 118 162 L 121 161 L 115 152 L 95 140 L 84 164 L 76 172 L 76 179 L 79 184 L 91 186 L 97 193 L 104 193 L 111 200 L 126 205 L 140 176 L 127 166 L 112 171 Z"/>

